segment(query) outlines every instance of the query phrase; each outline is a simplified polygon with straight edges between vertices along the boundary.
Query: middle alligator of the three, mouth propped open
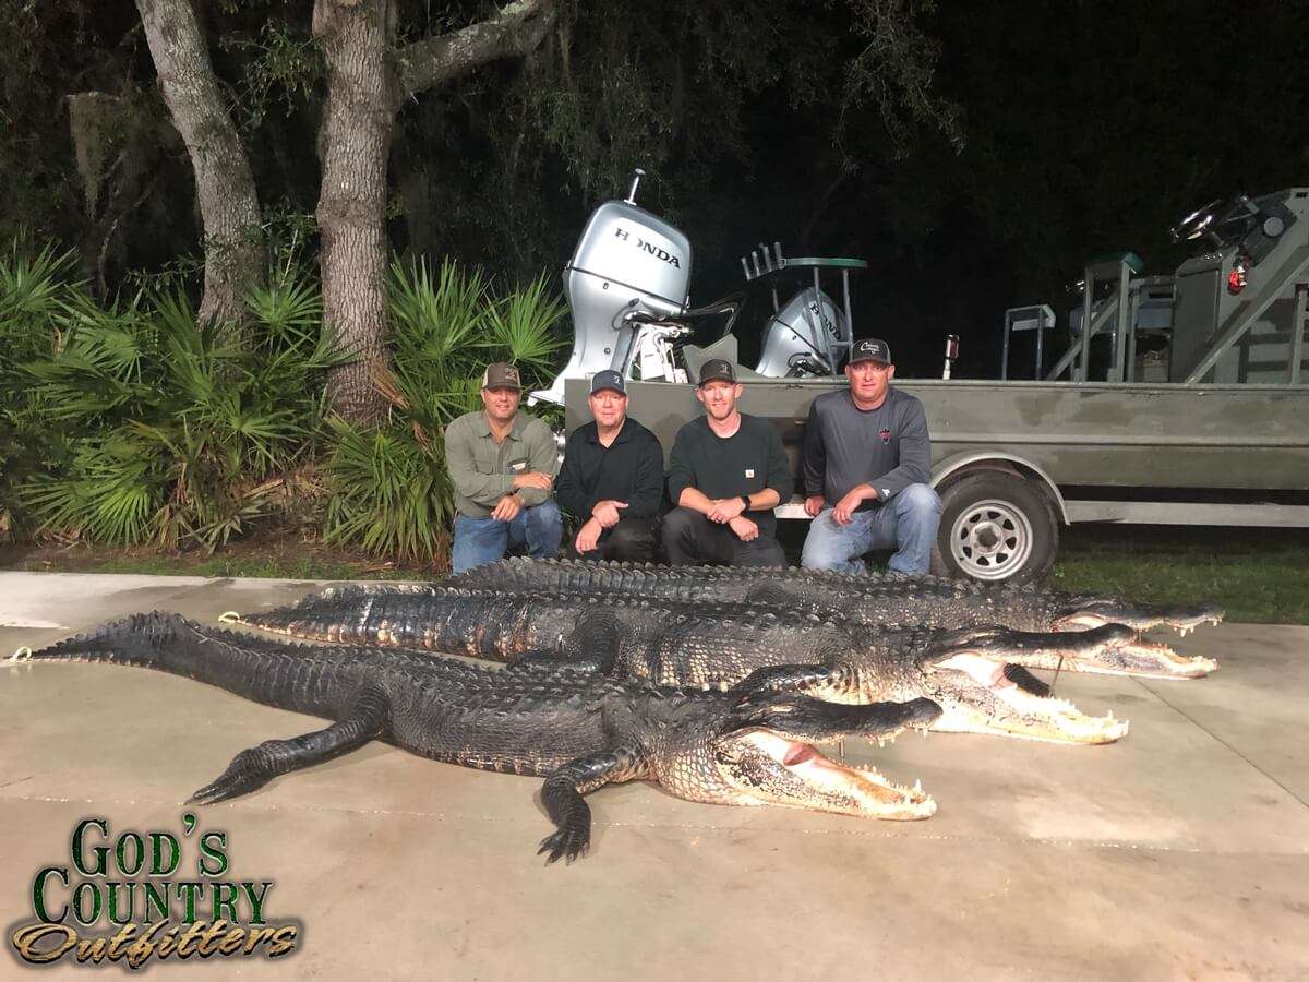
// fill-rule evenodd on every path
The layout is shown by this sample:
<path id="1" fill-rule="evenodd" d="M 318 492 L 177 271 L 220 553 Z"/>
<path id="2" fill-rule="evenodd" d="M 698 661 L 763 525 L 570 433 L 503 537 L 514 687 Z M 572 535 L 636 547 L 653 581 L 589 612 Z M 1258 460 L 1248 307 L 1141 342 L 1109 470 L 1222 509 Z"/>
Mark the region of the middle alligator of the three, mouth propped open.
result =
<path id="1" fill-rule="evenodd" d="M 1127 723 L 1083 715 L 1052 698 L 1025 665 L 1060 657 L 1109 664 L 1138 647 L 1135 632 L 1122 625 L 1045 634 L 868 628 L 740 605 L 454 587 L 387 593 L 335 588 L 240 619 L 297 638 L 496 660 L 545 657 L 665 685 L 726 689 L 767 669 L 761 683 L 833 702 L 929 698 L 944 710 L 933 729 L 1064 744 L 1111 742 L 1126 735 Z"/>

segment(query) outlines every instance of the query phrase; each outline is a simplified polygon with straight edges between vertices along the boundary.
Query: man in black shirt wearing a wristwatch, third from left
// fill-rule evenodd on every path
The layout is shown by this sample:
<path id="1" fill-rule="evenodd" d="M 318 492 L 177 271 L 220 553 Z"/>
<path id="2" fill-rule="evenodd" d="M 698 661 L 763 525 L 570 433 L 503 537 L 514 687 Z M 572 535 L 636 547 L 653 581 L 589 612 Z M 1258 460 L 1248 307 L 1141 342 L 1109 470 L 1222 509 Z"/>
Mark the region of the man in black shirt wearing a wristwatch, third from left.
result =
<path id="1" fill-rule="evenodd" d="M 736 407 L 745 391 L 730 361 L 700 368 L 704 415 L 683 426 L 669 458 L 664 549 L 674 566 L 785 566 L 772 509 L 791 496 L 791 465 L 767 420 Z"/>

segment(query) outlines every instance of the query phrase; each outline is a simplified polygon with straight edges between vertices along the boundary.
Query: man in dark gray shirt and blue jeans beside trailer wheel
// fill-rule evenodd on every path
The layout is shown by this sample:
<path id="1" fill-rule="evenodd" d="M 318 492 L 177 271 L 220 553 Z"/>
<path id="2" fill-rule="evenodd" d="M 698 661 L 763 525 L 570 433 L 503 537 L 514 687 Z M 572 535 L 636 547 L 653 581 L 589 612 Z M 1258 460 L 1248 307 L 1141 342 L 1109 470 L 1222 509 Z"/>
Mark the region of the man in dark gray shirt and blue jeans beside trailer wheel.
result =
<path id="1" fill-rule="evenodd" d="M 800 564 L 867 572 L 861 556 L 894 549 L 890 568 L 925 573 L 941 520 L 928 487 L 932 443 L 923 403 L 893 389 L 886 342 L 857 342 L 850 388 L 813 401 L 805 424 L 805 512 L 813 517 Z"/>

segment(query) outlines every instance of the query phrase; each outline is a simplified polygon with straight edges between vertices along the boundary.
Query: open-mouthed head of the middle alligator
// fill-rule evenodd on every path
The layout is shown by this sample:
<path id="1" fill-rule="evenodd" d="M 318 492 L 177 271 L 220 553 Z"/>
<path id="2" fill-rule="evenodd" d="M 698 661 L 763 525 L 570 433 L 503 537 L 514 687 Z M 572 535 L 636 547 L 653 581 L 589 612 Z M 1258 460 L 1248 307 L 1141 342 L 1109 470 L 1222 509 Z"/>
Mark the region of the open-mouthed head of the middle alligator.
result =
<path id="1" fill-rule="evenodd" d="M 1097 659 L 1135 638 L 1118 625 L 1094 632 L 1030 634 L 1009 628 L 954 631 L 919 656 L 923 694 L 941 706 L 933 729 L 1042 740 L 1055 744 L 1111 744 L 1127 721 L 1086 716 L 1024 668 L 1033 657 Z M 1039 639 L 1039 640 L 1038 640 Z"/>

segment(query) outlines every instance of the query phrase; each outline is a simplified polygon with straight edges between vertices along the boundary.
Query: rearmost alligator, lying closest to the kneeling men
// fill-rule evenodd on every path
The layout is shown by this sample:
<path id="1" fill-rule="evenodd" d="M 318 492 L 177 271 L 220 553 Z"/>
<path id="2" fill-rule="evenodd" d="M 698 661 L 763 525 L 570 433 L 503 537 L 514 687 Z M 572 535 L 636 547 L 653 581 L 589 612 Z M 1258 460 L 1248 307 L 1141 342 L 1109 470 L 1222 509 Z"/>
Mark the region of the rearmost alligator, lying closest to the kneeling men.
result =
<path id="1" fill-rule="evenodd" d="M 1186 635 L 1219 623 L 1212 604 L 1139 604 L 1119 597 L 1064 593 L 1031 584 L 987 585 L 977 580 L 885 573 L 860 576 L 796 567 L 669 567 L 513 558 L 469 570 L 450 583 L 507 591 L 631 593 L 679 601 L 738 601 L 839 610 L 863 625 L 1075 631 L 1106 623 L 1138 631 L 1172 627 Z"/>

